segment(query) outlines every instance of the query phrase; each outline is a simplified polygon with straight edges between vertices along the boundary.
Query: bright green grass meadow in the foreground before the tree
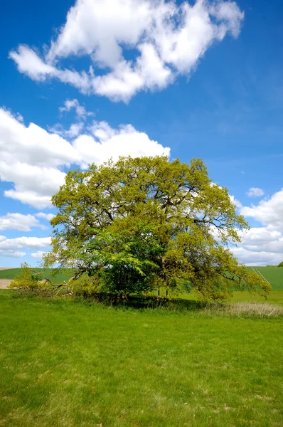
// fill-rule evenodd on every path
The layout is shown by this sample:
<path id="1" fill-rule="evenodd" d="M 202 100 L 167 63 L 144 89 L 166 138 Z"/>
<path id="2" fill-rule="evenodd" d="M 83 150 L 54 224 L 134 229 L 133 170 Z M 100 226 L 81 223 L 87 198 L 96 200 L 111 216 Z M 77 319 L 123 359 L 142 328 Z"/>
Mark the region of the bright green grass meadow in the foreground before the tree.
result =
<path id="1" fill-rule="evenodd" d="M 0 426 L 282 426 L 282 317 L 0 292 Z"/>

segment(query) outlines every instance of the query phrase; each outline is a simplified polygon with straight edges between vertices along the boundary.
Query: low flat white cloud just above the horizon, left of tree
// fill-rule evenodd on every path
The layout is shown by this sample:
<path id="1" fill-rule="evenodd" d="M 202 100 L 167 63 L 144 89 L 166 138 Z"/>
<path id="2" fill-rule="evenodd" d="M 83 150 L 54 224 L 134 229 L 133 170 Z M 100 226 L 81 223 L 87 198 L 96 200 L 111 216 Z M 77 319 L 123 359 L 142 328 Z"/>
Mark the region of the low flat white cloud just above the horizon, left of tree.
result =
<path id="1" fill-rule="evenodd" d="M 0 236 L 0 255 L 20 258 L 26 255 L 21 249 L 41 249 L 50 246 L 50 237 L 17 237 Z"/>

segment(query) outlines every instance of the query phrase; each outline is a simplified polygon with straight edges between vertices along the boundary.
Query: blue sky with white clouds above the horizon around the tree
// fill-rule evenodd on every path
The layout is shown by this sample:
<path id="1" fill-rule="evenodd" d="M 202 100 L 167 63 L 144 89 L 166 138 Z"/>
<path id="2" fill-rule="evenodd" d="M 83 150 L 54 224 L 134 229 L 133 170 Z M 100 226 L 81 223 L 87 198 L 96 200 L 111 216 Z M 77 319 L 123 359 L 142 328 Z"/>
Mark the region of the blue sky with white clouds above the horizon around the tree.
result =
<path id="1" fill-rule="evenodd" d="M 0 266 L 48 251 L 49 199 L 68 167 L 169 149 L 203 158 L 237 200 L 252 226 L 240 261 L 283 260 L 282 13 L 279 0 L 9 1 Z"/>

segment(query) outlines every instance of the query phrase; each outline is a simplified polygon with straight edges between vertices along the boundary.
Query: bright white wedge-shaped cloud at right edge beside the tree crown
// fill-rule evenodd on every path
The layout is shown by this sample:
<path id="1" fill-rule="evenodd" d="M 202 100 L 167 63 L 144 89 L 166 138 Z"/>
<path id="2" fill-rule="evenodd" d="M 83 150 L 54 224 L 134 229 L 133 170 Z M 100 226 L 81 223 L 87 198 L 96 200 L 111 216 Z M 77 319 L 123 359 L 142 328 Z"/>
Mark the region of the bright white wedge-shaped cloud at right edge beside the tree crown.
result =
<path id="1" fill-rule="evenodd" d="M 257 205 L 245 206 L 241 214 L 254 218 L 265 226 L 273 226 L 278 231 L 283 230 L 283 189 L 274 193 L 269 199 L 261 200 Z"/>

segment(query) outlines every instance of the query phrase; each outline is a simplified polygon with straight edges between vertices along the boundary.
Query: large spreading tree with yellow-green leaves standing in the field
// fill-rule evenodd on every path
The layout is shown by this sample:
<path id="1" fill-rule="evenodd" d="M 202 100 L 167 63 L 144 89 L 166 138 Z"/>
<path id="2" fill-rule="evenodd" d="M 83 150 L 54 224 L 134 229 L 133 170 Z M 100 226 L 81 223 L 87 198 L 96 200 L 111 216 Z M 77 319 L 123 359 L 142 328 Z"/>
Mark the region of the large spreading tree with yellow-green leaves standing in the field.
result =
<path id="1" fill-rule="evenodd" d="M 103 290 L 168 295 L 193 287 L 215 300 L 235 288 L 269 292 L 230 252 L 248 225 L 201 159 L 126 157 L 70 170 L 52 201 L 58 214 L 46 266 L 96 276 Z"/>

